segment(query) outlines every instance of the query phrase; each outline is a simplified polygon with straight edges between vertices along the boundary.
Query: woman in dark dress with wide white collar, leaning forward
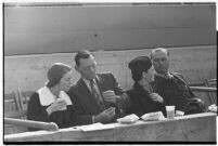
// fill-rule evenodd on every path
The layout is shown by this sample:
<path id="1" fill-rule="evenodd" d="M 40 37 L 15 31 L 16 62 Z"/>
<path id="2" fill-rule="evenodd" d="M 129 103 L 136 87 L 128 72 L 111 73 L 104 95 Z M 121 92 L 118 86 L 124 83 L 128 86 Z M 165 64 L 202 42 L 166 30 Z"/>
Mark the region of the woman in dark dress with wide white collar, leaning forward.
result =
<path id="1" fill-rule="evenodd" d="M 72 85 L 72 68 L 55 63 L 48 71 L 48 83 L 35 92 L 28 103 L 27 119 L 55 122 L 60 129 L 73 127 L 73 103 L 66 92 Z M 29 129 L 33 130 L 33 129 Z"/>

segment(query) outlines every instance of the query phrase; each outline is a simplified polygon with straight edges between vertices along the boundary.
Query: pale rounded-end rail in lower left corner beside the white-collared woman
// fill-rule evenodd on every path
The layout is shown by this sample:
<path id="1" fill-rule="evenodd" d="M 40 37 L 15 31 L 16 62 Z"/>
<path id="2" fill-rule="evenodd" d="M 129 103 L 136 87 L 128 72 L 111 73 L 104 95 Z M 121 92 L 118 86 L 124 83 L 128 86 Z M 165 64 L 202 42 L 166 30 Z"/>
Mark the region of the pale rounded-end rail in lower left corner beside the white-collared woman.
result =
<path id="1" fill-rule="evenodd" d="M 35 128 L 48 131 L 57 131 L 59 127 L 54 122 L 41 122 L 41 121 L 31 121 L 31 120 L 22 120 L 14 118 L 4 118 L 5 124 L 15 124 L 20 127 Z"/>

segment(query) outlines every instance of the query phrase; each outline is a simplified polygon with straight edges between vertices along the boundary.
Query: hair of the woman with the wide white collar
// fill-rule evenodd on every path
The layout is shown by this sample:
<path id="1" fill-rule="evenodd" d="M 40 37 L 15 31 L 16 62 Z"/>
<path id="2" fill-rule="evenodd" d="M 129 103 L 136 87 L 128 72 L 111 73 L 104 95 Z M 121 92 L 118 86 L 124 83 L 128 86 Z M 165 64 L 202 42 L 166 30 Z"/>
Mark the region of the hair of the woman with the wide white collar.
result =
<path id="1" fill-rule="evenodd" d="M 60 82 L 62 77 L 72 70 L 70 66 L 65 65 L 63 63 L 55 63 L 49 68 L 47 77 L 49 79 L 47 87 L 52 88 Z"/>

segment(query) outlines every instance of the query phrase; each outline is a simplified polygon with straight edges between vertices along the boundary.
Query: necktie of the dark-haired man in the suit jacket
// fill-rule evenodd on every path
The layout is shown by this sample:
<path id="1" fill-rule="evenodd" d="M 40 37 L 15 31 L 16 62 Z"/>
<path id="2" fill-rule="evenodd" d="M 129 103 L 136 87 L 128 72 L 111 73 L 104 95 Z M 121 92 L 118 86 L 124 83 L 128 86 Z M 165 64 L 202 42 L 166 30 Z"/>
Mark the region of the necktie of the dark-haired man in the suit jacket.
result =
<path id="1" fill-rule="evenodd" d="M 103 111 L 105 109 L 104 103 L 102 101 L 102 97 L 100 93 L 98 92 L 97 85 L 94 84 L 93 80 L 90 80 L 90 88 L 91 88 L 91 93 L 95 99 L 95 103 L 98 105 L 98 110 Z"/>

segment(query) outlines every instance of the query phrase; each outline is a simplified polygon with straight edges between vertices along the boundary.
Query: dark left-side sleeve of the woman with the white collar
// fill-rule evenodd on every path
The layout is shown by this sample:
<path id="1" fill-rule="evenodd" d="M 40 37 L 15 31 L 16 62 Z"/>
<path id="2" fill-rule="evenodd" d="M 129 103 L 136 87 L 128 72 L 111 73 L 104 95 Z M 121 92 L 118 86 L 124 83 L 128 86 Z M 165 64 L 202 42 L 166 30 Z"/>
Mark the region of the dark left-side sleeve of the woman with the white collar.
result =
<path id="1" fill-rule="evenodd" d="M 49 115 L 46 107 L 42 107 L 39 102 L 39 94 L 34 93 L 29 99 L 27 108 L 27 119 L 34 121 L 49 122 Z"/>

